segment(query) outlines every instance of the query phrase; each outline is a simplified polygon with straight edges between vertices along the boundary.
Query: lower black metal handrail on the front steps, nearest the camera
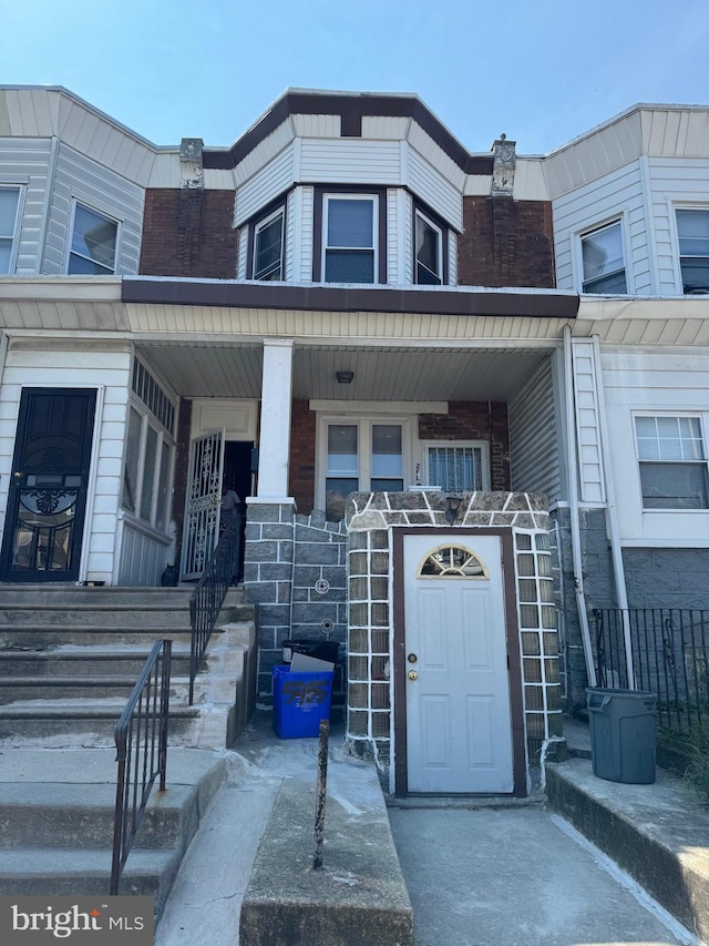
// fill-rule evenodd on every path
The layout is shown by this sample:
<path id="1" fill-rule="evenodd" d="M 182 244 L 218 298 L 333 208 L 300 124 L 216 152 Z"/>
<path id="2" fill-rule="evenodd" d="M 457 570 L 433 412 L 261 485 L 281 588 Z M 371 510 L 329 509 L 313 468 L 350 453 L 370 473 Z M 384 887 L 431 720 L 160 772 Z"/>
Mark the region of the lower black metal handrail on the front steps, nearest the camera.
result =
<path id="1" fill-rule="evenodd" d="M 119 776 L 113 825 L 111 895 L 140 827 L 151 790 L 160 776 L 165 791 L 172 641 L 155 641 L 115 728 Z"/>

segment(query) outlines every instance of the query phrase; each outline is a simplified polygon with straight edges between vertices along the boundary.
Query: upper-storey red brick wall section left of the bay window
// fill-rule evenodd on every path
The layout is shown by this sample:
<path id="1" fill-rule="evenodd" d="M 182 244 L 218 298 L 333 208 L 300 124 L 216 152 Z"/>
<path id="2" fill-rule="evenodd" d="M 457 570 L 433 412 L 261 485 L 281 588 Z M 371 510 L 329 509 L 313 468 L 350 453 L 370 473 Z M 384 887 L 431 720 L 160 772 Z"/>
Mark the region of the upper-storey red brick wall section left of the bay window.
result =
<path id="1" fill-rule="evenodd" d="M 141 275 L 236 278 L 234 191 L 145 193 Z"/>

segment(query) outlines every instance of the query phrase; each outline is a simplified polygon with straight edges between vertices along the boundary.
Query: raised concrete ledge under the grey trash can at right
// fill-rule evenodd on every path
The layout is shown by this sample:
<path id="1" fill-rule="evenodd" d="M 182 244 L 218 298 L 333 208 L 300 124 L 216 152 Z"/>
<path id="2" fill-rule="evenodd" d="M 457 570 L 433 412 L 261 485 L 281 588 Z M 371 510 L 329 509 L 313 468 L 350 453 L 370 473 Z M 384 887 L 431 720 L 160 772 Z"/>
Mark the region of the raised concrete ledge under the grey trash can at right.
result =
<path id="1" fill-rule="evenodd" d="M 650 785 L 608 782 L 587 759 L 546 769 L 549 805 L 701 942 L 709 942 L 709 811 L 662 770 Z"/>

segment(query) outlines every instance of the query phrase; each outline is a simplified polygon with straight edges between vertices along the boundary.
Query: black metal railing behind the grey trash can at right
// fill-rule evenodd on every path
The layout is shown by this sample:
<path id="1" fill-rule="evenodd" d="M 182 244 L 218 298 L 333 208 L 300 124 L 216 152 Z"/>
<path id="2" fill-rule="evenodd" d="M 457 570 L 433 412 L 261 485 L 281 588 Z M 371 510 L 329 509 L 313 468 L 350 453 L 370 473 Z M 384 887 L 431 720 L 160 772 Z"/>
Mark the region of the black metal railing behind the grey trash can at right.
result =
<path id="1" fill-rule="evenodd" d="M 599 686 L 656 693 L 660 729 L 691 733 L 709 725 L 709 611 L 599 608 L 593 617 Z"/>

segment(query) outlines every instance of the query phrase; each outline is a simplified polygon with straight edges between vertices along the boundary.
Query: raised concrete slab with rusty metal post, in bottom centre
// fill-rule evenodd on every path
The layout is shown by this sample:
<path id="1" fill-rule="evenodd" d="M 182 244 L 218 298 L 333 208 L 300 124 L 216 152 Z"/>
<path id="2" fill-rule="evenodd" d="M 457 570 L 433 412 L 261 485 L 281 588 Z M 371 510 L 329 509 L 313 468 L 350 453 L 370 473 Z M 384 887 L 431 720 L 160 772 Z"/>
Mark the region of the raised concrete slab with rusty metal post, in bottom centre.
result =
<path id="1" fill-rule="evenodd" d="M 349 770 L 349 771 L 347 771 Z M 413 946 L 413 911 L 373 767 L 328 786 L 325 856 L 312 869 L 315 783 L 286 779 L 242 903 L 239 946 Z"/>

